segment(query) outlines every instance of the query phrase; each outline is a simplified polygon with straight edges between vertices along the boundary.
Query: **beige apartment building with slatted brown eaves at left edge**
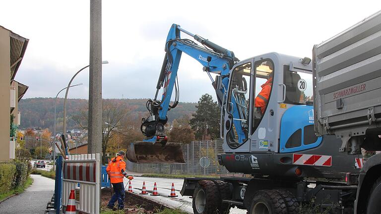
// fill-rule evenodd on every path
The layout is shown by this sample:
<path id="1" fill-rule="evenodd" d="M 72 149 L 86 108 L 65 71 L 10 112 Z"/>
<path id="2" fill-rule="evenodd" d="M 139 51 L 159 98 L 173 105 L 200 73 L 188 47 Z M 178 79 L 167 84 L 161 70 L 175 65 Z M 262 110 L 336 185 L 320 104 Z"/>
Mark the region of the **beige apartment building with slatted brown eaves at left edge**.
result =
<path id="1" fill-rule="evenodd" d="M 14 159 L 16 139 L 10 138 L 10 114 L 20 125 L 18 102 L 28 86 L 14 80 L 29 40 L 0 26 L 0 161 Z"/>

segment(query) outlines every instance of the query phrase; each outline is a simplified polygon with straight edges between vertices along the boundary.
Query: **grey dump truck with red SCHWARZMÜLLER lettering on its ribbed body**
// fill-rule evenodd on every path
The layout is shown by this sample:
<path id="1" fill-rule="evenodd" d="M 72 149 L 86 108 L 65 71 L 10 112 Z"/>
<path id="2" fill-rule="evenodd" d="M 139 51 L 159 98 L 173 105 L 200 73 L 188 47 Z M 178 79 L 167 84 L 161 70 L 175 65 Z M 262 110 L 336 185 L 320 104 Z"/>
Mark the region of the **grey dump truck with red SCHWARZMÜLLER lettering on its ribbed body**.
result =
<path id="1" fill-rule="evenodd" d="M 381 150 L 381 13 L 314 46 L 315 131 L 341 139 L 347 155 Z M 362 163 L 361 163 L 362 164 Z M 381 213 L 381 155 L 347 176 L 354 211 Z"/>

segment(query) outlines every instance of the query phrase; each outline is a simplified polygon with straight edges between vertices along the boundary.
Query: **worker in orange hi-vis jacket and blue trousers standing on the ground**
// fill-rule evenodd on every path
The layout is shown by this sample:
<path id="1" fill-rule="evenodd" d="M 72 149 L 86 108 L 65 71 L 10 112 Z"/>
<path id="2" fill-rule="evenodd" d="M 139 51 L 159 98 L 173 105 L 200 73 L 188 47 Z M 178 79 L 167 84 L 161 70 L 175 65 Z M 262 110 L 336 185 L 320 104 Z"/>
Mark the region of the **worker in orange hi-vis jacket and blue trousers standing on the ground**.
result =
<path id="1" fill-rule="evenodd" d="M 119 151 L 117 156 L 109 162 L 109 165 L 106 168 L 111 184 L 114 187 L 114 195 L 111 197 L 107 207 L 113 210 L 117 200 L 119 210 L 122 210 L 125 207 L 125 187 L 123 185 L 123 178 L 127 177 L 129 180 L 133 179 L 132 175 L 127 175 L 126 162 L 123 160 L 125 155 L 126 153 L 124 151 Z"/>

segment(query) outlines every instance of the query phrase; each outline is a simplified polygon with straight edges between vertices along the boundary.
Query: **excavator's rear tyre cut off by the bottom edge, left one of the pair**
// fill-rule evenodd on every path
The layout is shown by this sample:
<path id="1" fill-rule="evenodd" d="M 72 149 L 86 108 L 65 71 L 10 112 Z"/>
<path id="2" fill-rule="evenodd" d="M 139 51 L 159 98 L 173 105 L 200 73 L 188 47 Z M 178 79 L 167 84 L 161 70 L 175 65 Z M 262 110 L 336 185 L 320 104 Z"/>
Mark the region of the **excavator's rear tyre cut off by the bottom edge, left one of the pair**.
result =
<path id="1" fill-rule="evenodd" d="M 287 214 L 287 206 L 276 190 L 260 190 L 253 198 L 249 214 Z"/>

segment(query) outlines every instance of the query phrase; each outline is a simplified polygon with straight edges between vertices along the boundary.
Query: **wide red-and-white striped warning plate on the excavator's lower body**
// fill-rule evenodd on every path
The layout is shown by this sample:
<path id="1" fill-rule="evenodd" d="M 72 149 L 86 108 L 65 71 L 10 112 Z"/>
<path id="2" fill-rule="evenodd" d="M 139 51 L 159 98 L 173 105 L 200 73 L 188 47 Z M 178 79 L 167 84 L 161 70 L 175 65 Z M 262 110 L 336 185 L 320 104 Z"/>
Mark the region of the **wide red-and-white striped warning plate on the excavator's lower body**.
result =
<path id="1" fill-rule="evenodd" d="M 332 166 L 332 156 L 293 154 L 295 165 Z"/>

